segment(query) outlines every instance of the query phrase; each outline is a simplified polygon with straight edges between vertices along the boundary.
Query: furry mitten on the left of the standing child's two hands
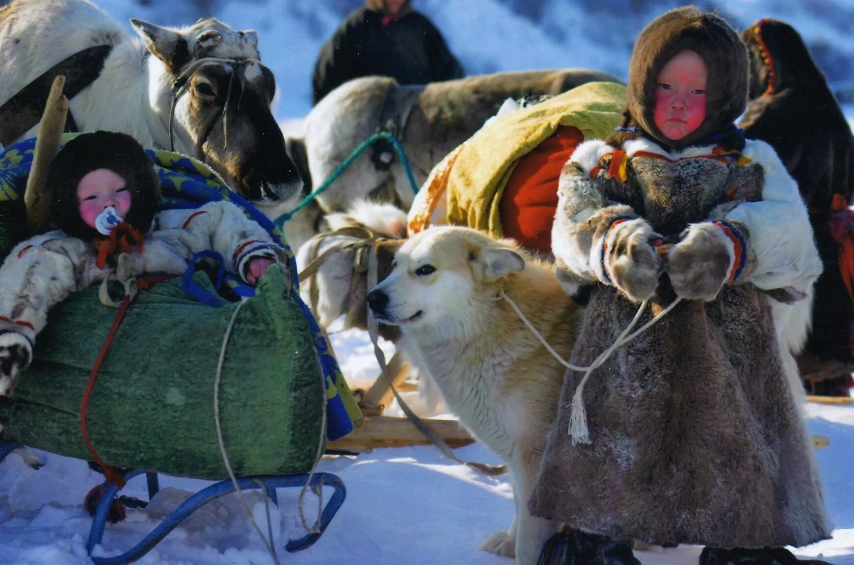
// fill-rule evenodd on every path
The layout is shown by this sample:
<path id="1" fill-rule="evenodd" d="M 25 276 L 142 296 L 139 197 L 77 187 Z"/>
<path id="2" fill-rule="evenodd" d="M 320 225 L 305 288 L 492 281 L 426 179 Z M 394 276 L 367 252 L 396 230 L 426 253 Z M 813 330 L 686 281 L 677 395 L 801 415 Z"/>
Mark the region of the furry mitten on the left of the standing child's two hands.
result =
<path id="1" fill-rule="evenodd" d="M 652 247 L 660 238 L 646 220 L 637 218 L 617 225 L 609 235 L 605 270 L 614 284 L 629 300 L 642 302 L 655 294 L 664 262 Z"/>

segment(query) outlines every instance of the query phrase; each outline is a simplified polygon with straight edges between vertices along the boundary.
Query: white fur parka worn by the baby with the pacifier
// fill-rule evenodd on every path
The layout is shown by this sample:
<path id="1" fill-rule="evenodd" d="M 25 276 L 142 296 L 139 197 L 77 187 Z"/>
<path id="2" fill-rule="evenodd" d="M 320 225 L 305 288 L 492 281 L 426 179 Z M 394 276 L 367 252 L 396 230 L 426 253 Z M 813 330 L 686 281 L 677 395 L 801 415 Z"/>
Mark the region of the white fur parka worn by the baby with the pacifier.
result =
<path id="1" fill-rule="evenodd" d="M 98 266 L 94 242 L 61 230 L 20 242 L 0 266 L 0 348 L 16 352 L 14 363 L 0 364 L 0 395 L 15 388 L 20 371 L 32 360 L 32 347 L 50 309 L 69 294 L 101 282 L 114 271 L 124 271 L 118 272 L 121 277 L 179 276 L 194 254 L 209 250 L 222 256 L 225 271 L 244 282 L 249 262 L 256 257 L 287 265 L 284 249 L 227 201 L 156 214 L 143 248 L 114 256 L 117 265 Z"/>

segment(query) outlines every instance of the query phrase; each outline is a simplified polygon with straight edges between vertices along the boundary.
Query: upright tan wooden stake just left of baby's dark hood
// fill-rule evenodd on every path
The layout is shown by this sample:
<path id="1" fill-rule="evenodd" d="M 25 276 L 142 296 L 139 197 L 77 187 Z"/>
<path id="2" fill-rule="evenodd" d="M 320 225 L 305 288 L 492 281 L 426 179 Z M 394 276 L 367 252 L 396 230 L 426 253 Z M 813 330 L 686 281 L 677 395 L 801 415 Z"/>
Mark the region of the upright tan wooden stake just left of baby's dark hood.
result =
<path id="1" fill-rule="evenodd" d="M 26 179 L 24 205 L 26 223 L 30 233 L 44 229 L 47 221 L 48 202 L 44 197 L 44 183 L 50 161 L 59 153 L 62 131 L 68 114 L 68 99 L 62 95 L 65 75 L 59 75 L 50 86 L 48 100 L 44 104 L 41 125 L 38 128 L 35 153 L 32 155 L 30 176 Z"/>

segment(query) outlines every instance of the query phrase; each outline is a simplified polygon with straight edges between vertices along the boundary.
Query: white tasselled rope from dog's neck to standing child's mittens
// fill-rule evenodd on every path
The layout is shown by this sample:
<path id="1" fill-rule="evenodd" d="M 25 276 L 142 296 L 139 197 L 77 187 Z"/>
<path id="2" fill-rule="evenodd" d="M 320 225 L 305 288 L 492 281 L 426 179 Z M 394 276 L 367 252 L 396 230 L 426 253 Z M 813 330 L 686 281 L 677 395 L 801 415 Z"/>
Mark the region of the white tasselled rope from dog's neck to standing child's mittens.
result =
<path id="1" fill-rule="evenodd" d="M 498 298 L 506 300 L 510 304 L 510 306 L 512 306 L 518 317 L 522 319 L 525 325 L 528 326 L 528 329 L 530 329 L 531 332 L 536 336 L 536 338 L 540 340 L 541 344 L 546 347 L 548 352 L 550 352 L 552 356 L 560 362 L 560 364 L 566 367 L 567 373 L 569 373 L 570 370 L 584 373 L 584 376 L 582 377 L 582 382 L 578 383 L 578 386 L 576 387 L 576 393 L 572 396 L 572 407 L 570 411 L 570 428 L 568 430 L 568 433 L 570 434 L 570 436 L 572 436 L 573 446 L 579 443 L 590 443 L 590 436 L 588 433 L 587 425 L 587 411 L 584 408 L 584 399 L 582 397 L 582 393 L 584 392 L 584 385 L 587 384 L 588 379 L 593 374 L 593 371 L 598 369 L 602 364 L 604 364 L 605 361 L 608 360 L 608 358 L 611 358 L 611 355 L 615 351 L 617 351 L 617 349 L 623 347 L 624 345 L 629 343 L 629 341 L 634 340 L 635 337 L 644 333 L 647 329 L 650 329 L 652 327 L 652 324 L 658 322 L 658 320 L 669 314 L 670 311 L 672 311 L 676 307 L 676 305 L 679 304 L 682 300 L 681 298 L 677 298 L 676 300 L 671 302 L 670 306 L 667 306 L 666 308 L 664 308 L 663 311 L 658 312 L 658 314 L 653 317 L 652 320 L 642 325 L 640 329 L 638 329 L 637 331 L 635 331 L 635 333 L 627 337 L 626 335 L 629 334 L 629 332 L 635 328 L 635 325 L 640 320 L 640 316 L 644 312 L 646 312 L 646 306 L 649 305 L 649 300 L 644 300 L 640 304 L 640 308 L 638 308 L 638 311 L 635 313 L 635 317 L 633 317 L 629 325 L 626 326 L 625 329 L 623 329 L 623 332 L 619 336 L 617 336 L 617 340 L 614 341 L 610 347 L 605 349 L 604 352 L 601 352 L 599 357 L 595 358 L 594 362 L 588 367 L 579 367 L 577 365 L 570 364 L 569 362 L 567 362 L 559 355 L 558 352 L 554 350 L 552 346 L 548 344 L 548 342 L 545 340 L 545 338 L 543 338 L 541 333 L 535 329 L 534 325 L 530 323 L 529 319 L 525 317 L 521 310 L 519 310 L 519 307 L 516 305 L 516 303 L 504 293 L 504 290 L 501 290 L 500 294 L 498 295 Z"/>

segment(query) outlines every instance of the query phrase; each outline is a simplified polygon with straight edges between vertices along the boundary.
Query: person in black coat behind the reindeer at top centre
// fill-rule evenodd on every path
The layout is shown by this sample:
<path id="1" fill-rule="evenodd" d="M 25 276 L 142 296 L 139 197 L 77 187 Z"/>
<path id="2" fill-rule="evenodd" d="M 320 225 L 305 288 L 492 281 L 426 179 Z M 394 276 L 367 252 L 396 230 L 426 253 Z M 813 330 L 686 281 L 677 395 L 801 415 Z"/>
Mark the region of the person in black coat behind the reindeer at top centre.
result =
<path id="1" fill-rule="evenodd" d="M 350 79 L 382 75 L 399 84 L 427 84 L 464 76 L 442 34 L 411 0 L 366 0 L 320 49 L 312 102 Z"/>

